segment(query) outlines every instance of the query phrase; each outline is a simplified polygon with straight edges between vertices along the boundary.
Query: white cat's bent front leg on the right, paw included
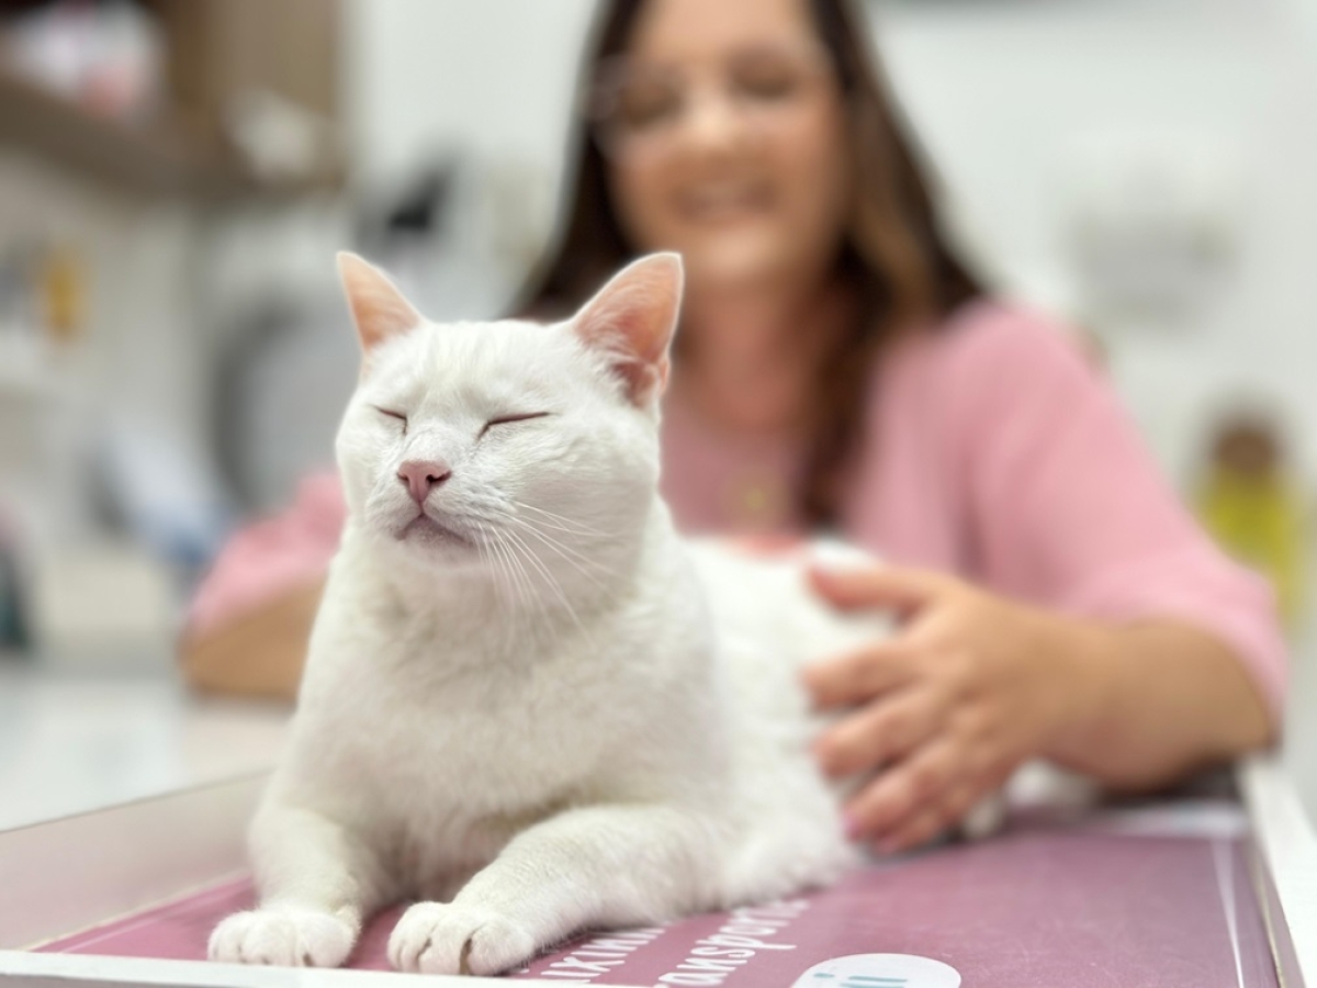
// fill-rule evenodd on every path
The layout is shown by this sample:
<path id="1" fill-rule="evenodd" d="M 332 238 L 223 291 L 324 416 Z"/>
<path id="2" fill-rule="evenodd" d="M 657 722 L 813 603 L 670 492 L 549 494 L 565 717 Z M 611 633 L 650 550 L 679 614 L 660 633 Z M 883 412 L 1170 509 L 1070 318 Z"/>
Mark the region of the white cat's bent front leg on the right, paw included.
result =
<path id="1" fill-rule="evenodd" d="M 672 806 L 568 810 L 512 839 L 450 904 L 417 902 L 389 959 L 400 971 L 494 975 L 586 927 L 637 926 L 722 901 L 723 837 Z"/>

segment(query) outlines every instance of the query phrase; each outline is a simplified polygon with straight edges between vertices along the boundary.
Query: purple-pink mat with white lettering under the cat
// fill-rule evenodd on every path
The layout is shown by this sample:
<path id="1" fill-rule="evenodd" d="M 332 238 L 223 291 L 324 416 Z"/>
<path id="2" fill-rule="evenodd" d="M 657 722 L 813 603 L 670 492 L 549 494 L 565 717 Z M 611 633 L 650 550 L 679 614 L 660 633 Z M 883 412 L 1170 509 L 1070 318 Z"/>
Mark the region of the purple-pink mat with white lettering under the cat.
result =
<path id="1" fill-rule="evenodd" d="M 1276 988 L 1249 855 L 1247 840 L 1233 837 L 1026 829 L 876 863 L 776 906 L 583 937 L 511 977 L 934 984 L 884 975 L 878 962 L 846 980 L 810 971 L 835 958 L 903 954 L 948 964 L 973 988 Z M 40 950 L 202 960 L 219 919 L 252 902 L 249 880 L 227 881 Z M 375 917 L 349 967 L 387 970 L 385 945 L 399 912 Z"/>

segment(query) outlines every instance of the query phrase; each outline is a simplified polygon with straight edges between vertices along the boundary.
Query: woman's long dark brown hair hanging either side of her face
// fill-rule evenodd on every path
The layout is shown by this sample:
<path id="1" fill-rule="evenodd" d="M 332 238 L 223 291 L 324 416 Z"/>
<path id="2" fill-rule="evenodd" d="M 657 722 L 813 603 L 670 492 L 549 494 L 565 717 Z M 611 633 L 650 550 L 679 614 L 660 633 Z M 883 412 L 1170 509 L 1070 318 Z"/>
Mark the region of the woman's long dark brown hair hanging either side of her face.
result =
<path id="1" fill-rule="evenodd" d="M 582 74 L 591 87 L 601 63 L 622 54 L 644 0 L 614 0 Z M 814 440 L 801 490 L 801 514 L 815 526 L 836 522 L 846 472 L 863 440 L 865 391 L 878 345 L 902 328 L 936 324 L 981 288 L 938 229 L 927 182 L 909 138 L 877 82 L 857 14 L 847 0 L 809 0 L 848 107 L 855 155 L 853 221 L 838 253 L 836 277 L 853 286 L 857 316 L 819 366 L 814 387 Z M 585 100 L 579 100 L 583 105 Z M 562 234 L 532 274 L 519 310 L 565 315 L 636 256 L 608 198 L 607 162 L 581 125 L 569 169 L 576 182 Z"/>

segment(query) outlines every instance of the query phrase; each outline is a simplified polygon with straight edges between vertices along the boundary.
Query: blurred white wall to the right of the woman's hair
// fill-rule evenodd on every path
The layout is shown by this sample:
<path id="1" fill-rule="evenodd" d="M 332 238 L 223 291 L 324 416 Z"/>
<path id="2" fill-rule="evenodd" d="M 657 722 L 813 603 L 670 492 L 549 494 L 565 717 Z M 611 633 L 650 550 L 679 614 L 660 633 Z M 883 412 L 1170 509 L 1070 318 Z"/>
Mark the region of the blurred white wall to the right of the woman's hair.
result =
<path id="1" fill-rule="evenodd" d="M 880 4 L 897 88 L 1009 286 L 1064 302 L 1060 208 L 1077 144 L 1113 132 L 1220 146 L 1242 178 L 1242 252 L 1181 332 L 1119 336 L 1114 374 L 1180 477 L 1222 393 L 1272 394 L 1317 462 L 1317 59 L 1291 0 Z"/>

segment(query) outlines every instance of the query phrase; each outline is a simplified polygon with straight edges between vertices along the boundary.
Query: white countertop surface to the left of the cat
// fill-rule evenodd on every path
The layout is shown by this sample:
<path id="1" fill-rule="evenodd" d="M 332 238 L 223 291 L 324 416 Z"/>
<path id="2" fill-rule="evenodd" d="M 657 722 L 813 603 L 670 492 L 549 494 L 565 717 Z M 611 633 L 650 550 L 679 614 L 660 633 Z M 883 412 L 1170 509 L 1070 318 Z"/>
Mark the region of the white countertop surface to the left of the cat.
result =
<path id="1" fill-rule="evenodd" d="M 170 669 L 0 661 L 0 830 L 269 768 L 290 713 L 190 696 Z"/>

